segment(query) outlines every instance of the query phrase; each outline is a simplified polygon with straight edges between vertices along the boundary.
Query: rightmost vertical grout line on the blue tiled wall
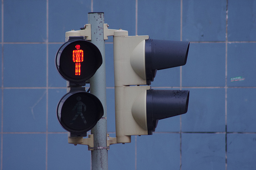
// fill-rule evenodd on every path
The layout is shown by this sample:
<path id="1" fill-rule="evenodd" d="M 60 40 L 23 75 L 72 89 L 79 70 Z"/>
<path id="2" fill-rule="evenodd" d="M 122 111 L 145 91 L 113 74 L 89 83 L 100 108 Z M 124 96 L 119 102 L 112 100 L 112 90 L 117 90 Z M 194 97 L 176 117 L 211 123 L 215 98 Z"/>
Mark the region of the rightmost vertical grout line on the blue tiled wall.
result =
<path id="1" fill-rule="evenodd" d="M 228 81 L 228 0 L 226 0 L 226 43 L 225 43 L 225 170 L 227 170 L 227 115 L 228 115 L 228 110 L 227 110 L 227 81 Z"/>

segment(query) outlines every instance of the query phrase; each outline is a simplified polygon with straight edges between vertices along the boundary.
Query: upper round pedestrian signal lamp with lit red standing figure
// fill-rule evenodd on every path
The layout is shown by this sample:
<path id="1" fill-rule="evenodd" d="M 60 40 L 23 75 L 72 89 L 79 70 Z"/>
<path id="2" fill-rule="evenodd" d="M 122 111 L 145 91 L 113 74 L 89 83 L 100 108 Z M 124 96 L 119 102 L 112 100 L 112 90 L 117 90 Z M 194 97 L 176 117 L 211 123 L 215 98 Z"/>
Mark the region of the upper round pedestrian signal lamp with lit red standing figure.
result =
<path id="1" fill-rule="evenodd" d="M 58 73 L 72 85 L 85 85 L 102 65 L 100 50 L 86 40 L 70 40 L 56 54 Z"/>

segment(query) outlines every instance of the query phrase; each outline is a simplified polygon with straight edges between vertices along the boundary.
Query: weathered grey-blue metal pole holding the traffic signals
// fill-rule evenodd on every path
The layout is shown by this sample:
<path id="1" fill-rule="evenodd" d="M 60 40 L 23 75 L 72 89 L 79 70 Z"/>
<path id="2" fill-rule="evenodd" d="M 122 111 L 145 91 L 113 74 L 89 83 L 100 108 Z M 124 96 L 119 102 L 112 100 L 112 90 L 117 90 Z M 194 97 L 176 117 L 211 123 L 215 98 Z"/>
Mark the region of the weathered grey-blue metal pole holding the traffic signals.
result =
<path id="1" fill-rule="evenodd" d="M 107 150 L 107 119 L 106 119 L 106 63 L 105 63 L 105 41 L 103 34 L 104 13 L 88 13 L 88 24 L 91 24 L 92 43 L 94 43 L 102 54 L 102 65 L 90 79 L 90 91 L 100 99 L 104 115 L 92 128 L 94 134 L 94 150 L 92 150 L 92 170 L 108 170 Z"/>

